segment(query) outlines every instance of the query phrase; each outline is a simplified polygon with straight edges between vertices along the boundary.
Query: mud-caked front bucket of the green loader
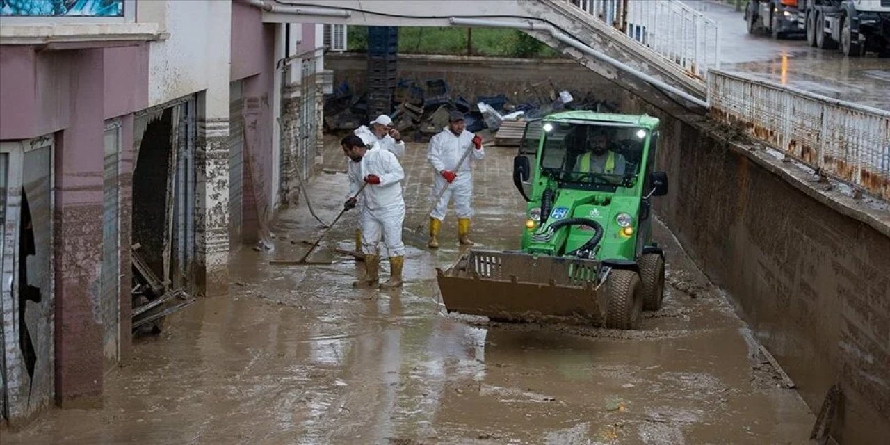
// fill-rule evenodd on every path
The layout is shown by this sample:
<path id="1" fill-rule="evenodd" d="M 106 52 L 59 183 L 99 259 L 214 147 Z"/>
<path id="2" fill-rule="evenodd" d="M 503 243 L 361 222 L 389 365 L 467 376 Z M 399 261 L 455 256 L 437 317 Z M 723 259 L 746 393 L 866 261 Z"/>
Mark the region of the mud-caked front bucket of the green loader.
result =
<path id="1" fill-rule="evenodd" d="M 599 270 L 594 260 L 473 250 L 436 271 L 449 312 L 599 326 L 605 308 Z"/>

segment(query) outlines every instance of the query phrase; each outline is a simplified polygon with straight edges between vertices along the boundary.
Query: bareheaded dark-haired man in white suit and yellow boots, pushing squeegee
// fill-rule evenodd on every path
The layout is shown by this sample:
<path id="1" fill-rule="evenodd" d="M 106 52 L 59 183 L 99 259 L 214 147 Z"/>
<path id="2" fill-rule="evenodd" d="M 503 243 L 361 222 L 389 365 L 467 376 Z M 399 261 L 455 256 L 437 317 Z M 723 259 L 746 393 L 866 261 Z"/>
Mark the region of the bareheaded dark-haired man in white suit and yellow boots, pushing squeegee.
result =
<path id="1" fill-rule="evenodd" d="M 405 244 L 401 240 L 401 226 L 405 221 L 405 200 L 401 195 L 401 182 L 405 172 L 399 159 L 389 150 L 368 150 L 365 142 L 355 134 L 340 142 L 344 154 L 359 168 L 349 169 L 350 198 L 344 210 L 357 205 L 352 198 L 361 183 L 368 185 L 362 192 L 364 204 L 359 214 L 361 249 L 365 255 L 365 275 L 352 283 L 354 287 L 375 287 L 379 280 L 380 254 L 378 245 L 383 239 L 389 251 L 390 279 L 380 287 L 401 287 L 402 268 L 405 260 Z"/>

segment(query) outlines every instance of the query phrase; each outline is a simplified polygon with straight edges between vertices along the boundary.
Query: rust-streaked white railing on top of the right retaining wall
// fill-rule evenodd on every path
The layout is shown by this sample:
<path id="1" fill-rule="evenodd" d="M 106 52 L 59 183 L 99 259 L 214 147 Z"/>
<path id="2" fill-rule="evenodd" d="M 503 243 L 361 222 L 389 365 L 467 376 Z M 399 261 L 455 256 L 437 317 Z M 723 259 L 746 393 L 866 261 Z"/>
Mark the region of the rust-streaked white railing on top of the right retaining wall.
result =
<path id="1" fill-rule="evenodd" d="M 710 113 L 807 166 L 890 200 L 890 111 L 719 70 Z"/>

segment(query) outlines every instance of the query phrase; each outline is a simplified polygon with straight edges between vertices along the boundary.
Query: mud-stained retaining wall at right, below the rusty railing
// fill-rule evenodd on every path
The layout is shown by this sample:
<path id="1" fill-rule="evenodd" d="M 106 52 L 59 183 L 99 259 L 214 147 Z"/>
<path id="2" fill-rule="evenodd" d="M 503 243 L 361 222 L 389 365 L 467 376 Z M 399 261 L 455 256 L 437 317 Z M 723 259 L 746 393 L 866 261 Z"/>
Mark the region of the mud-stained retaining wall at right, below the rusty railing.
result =
<path id="1" fill-rule="evenodd" d="M 732 296 L 813 412 L 841 385 L 835 438 L 890 437 L 890 238 L 746 149 L 659 117 L 658 165 L 669 178 L 667 197 L 656 199 L 660 217 Z"/>

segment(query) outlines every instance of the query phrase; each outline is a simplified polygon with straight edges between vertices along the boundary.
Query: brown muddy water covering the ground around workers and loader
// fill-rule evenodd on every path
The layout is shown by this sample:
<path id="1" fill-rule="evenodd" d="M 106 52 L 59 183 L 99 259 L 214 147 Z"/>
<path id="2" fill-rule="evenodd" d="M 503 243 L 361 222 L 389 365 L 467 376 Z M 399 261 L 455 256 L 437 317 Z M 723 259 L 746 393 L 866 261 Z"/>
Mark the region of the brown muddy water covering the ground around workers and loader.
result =
<path id="1" fill-rule="evenodd" d="M 430 178 L 424 146 L 404 159 L 413 228 Z M 515 248 L 522 199 L 513 149 L 476 170 L 473 238 Z M 336 172 L 342 157 L 328 150 Z M 313 205 L 330 222 L 346 177 L 320 174 Z M 745 325 L 661 225 L 666 303 L 641 330 L 505 325 L 447 315 L 434 268 L 458 253 L 449 216 L 442 248 L 409 247 L 401 290 L 355 291 L 354 214 L 313 259 L 320 234 L 303 205 L 275 224 L 275 249 L 233 258 L 231 295 L 166 320 L 110 374 L 103 409 L 56 410 L 3 443 L 804 443 L 813 425 L 797 393 L 759 355 Z M 425 227 L 425 226 L 424 226 Z M 297 244 L 295 244 L 297 243 Z M 385 279 L 388 264 L 384 262 Z M 681 290 L 682 289 L 682 290 Z"/>

